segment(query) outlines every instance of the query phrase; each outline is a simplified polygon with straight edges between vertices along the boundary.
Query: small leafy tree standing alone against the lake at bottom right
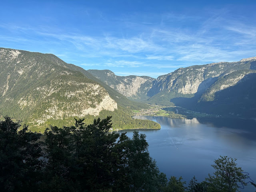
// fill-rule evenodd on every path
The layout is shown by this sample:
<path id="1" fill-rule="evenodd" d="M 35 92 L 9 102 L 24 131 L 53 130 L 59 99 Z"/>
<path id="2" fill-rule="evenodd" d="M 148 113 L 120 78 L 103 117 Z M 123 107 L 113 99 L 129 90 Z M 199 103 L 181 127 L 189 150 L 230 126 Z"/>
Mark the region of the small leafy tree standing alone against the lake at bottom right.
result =
<path id="1" fill-rule="evenodd" d="M 236 166 L 236 159 L 220 156 L 214 162 L 215 164 L 212 165 L 216 170 L 214 176 L 209 174 L 209 178 L 206 178 L 209 191 L 236 192 L 239 188 L 238 184 L 247 185 L 244 180 L 248 176 L 242 173 L 241 167 Z"/>

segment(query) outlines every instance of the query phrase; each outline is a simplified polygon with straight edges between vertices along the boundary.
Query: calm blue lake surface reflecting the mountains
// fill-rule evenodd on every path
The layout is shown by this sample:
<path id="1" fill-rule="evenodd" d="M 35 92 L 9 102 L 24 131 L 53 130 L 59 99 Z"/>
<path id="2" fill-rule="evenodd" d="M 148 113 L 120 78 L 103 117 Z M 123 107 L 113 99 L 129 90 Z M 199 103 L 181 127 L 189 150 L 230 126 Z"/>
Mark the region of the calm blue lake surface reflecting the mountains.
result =
<path id="1" fill-rule="evenodd" d="M 195 175 L 201 182 L 212 174 L 211 164 L 219 156 L 237 158 L 236 163 L 256 182 L 256 121 L 230 118 L 194 118 L 192 120 L 134 116 L 158 122 L 160 130 L 139 130 L 146 134 L 150 156 L 168 178 L 176 176 L 188 182 Z M 122 130 L 132 137 L 133 130 Z M 178 149 L 177 149 L 178 148 Z M 248 180 L 249 181 L 249 180 Z M 248 184 L 242 192 L 255 191 Z"/>

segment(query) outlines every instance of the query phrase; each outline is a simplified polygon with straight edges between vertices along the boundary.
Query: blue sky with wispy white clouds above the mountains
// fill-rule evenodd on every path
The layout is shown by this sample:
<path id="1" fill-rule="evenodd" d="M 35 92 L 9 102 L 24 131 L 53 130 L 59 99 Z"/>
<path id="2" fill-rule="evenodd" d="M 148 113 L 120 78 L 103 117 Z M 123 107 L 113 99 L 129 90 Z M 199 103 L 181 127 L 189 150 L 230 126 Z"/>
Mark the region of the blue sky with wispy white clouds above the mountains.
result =
<path id="1" fill-rule="evenodd" d="M 1 2 L 0 47 L 157 78 L 256 56 L 256 0 Z"/>

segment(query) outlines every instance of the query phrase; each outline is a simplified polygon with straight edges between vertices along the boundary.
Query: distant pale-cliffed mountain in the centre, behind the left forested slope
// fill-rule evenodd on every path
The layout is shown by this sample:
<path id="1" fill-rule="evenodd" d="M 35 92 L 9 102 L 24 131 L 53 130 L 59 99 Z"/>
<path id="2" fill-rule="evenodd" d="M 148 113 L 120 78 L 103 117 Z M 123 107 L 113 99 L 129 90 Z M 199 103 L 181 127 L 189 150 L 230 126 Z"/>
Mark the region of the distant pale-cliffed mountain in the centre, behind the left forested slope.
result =
<path id="1" fill-rule="evenodd" d="M 110 70 L 87 70 L 93 76 L 133 100 L 146 100 L 148 91 L 156 80 L 148 76 L 117 76 Z"/>

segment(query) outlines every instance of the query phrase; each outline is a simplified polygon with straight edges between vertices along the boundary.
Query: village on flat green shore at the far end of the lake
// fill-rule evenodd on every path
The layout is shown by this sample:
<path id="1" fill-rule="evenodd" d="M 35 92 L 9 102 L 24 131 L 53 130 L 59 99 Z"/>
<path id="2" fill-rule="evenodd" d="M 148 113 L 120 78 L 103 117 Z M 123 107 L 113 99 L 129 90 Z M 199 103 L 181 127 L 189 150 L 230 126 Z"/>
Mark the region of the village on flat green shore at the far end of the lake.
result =
<path id="1" fill-rule="evenodd" d="M 207 114 L 191 111 L 178 106 L 160 106 L 151 105 L 148 109 L 142 109 L 140 111 L 133 110 L 134 116 L 148 115 L 148 116 L 166 116 L 170 118 L 194 118 L 194 117 L 221 117 L 221 115 Z"/>

